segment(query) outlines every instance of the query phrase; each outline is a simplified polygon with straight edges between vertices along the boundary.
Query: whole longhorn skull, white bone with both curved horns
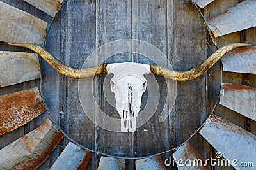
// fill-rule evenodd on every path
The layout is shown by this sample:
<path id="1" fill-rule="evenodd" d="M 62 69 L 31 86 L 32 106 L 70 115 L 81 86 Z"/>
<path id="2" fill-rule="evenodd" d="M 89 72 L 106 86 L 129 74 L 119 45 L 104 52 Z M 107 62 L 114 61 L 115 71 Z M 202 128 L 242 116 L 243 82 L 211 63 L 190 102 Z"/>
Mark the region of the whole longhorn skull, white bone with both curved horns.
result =
<path id="1" fill-rule="evenodd" d="M 214 52 L 204 63 L 189 71 L 175 71 L 166 67 L 152 64 L 100 64 L 99 66 L 76 69 L 62 64 L 59 60 L 44 50 L 44 48 L 33 44 L 10 44 L 29 48 L 38 53 L 59 73 L 70 78 L 88 78 L 100 74 L 113 73 L 111 89 L 115 93 L 116 108 L 121 116 L 121 129 L 123 132 L 134 132 L 136 129 L 136 117 L 140 111 L 141 96 L 145 92 L 147 81 L 143 74 L 154 74 L 164 78 L 187 81 L 192 80 L 210 69 L 225 53 L 237 47 L 253 46 L 243 43 L 235 43 L 223 46 Z"/>

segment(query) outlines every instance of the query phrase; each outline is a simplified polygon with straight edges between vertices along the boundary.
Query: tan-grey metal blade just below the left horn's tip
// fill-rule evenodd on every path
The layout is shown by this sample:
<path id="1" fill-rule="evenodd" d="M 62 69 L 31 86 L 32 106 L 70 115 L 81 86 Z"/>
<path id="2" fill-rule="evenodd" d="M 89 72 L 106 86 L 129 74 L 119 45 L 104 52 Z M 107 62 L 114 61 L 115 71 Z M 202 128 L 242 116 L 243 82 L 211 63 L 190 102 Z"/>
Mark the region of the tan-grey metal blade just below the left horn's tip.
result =
<path id="1" fill-rule="evenodd" d="M 0 87 L 40 78 L 36 53 L 0 51 Z"/>

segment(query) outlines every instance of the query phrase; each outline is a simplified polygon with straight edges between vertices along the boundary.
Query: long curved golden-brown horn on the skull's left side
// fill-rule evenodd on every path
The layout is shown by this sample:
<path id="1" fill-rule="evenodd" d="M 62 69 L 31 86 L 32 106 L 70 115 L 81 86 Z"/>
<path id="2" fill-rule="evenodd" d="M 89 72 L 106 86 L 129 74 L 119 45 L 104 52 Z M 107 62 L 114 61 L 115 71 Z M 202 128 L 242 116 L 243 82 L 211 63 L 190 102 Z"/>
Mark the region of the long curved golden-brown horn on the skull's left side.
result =
<path id="1" fill-rule="evenodd" d="M 50 64 L 59 73 L 68 76 L 70 78 L 88 78 L 93 76 L 99 76 L 100 74 L 107 74 L 107 64 L 100 64 L 99 66 L 88 67 L 84 69 L 75 69 L 62 64 L 58 59 L 53 57 L 51 53 L 47 52 L 44 48 L 33 44 L 12 44 L 9 45 L 20 46 L 29 48 L 38 53 L 48 64 Z"/>

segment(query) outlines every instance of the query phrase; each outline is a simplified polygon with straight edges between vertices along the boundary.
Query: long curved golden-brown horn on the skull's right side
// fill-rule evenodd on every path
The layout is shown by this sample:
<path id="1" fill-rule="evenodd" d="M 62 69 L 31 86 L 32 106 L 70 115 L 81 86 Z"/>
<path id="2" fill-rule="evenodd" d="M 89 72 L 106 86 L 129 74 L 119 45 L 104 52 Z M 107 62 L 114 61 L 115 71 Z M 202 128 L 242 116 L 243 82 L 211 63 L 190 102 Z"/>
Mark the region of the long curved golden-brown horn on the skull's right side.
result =
<path id="1" fill-rule="evenodd" d="M 150 64 L 150 74 L 154 74 L 156 76 L 161 76 L 164 78 L 177 80 L 177 81 L 188 81 L 197 78 L 198 76 L 205 73 L 205 71 L 209 70 L 218 60 L 220 60 L 225 53 L 233 50 L 237 47 L 243 46 L 253 46 L 250 44 L 243 43 L 234 43 L 227 46 L 223 46 L 216 52 L 214 52 L 208 59 L 205 60 L 200 66 L 197 66 L 189 71 L 176 71 L 173 69 L 168 69 L 166 67 L 156 66 Z"/>

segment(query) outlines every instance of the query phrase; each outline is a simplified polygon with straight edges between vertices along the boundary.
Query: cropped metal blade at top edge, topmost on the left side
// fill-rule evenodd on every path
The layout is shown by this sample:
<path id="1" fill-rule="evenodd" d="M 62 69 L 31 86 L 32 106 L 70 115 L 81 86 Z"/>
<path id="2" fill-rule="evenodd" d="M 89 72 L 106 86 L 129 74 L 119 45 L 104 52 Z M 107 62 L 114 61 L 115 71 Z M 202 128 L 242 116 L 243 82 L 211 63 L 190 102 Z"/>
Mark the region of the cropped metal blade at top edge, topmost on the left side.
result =
<path id="1" fill-rule="evenodd" d="M 44 0 L 44 1 L 42 1 L 42 0 L 24 0 L 24 1 L 35 6 L 39 10 L 44 11 L 51 17 L 54 17 L 56 15 L 57 11 L 61 7 L 61 3 L 63 2 L 63 0 Z"/>

